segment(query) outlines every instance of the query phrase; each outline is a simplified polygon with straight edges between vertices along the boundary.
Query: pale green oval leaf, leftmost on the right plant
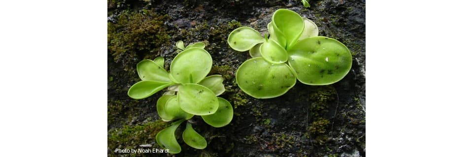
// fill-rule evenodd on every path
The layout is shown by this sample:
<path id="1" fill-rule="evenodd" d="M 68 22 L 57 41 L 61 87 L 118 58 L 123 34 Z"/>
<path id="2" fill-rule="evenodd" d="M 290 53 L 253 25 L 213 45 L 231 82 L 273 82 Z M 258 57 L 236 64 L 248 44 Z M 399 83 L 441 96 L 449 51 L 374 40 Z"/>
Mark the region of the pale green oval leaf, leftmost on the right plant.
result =
<path id="1" fill-rule="evenodd" d="M 265 38 L 261 36 L 260 32 L 250 27 L 240 27 L 228 35 L 227 42 L 232 49 L 243 52 L 248 51 L 256 44 L 265 42 Z"/>

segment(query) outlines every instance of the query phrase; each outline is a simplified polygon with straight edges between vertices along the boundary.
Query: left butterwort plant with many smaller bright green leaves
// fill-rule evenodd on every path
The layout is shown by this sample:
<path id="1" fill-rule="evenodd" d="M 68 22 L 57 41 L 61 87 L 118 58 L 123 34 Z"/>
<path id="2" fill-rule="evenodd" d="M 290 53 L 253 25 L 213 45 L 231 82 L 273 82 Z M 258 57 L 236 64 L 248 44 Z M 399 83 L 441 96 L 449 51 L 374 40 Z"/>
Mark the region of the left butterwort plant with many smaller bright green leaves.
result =
<path id="1" fill-rule="evenodd" d="M 163 57 L 139 62 L 136 69 L 141 81 L 128 91 L 130 97 L 142 99 L 167 88 L 156 102 L 156 108 L 163 121 L 175 122 L 158 132 L 156 142 L 172 154 L 181 152 L 175 132 L 184 121 L 197 115 L 210 126 L 222 127 L 233 119 L 230 102 L 217 97 L 225 92 L 223 77 L 207 76 L 212 67 L 212 57 L 203 49 L 205 44 L 198 42 L 184 47 L 184 43 L 178 41 L 176 46 L 178 54 L 169 71 L 164 68 Z M 207 147 L 205 138 L 189 122 L 182 132 L 182 139 L 195 149 Z"/>

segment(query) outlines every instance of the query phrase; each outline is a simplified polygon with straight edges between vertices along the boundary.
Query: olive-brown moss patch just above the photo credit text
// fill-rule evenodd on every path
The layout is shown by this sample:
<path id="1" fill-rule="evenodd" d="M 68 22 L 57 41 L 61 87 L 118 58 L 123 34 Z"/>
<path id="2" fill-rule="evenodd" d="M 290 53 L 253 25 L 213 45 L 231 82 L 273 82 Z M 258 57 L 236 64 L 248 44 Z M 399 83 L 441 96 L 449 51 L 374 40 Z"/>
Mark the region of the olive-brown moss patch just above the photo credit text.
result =
<path id="1" fill-rule="evenodd" d="M 108 149 L 137 149 L 141 144 L 155 142 L 156 134 L 169 126 L 163 121 L 148 122 L 138 126 L 123 126 L 108 132 Z M 157 145 L 153 147 L 158 147 Z"/>

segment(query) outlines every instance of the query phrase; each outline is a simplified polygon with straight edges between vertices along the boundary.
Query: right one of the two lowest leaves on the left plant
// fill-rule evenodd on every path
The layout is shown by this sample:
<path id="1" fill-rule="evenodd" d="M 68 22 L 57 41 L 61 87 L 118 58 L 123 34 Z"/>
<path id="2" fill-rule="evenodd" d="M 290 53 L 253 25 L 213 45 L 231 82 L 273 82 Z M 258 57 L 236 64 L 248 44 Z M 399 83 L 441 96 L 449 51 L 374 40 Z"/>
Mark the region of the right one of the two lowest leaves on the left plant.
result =
<path id="1" fill-rule="evenodd" d="M 187 122 L 186 129 L 182 132 L 184 142 L 195 149 L 204 149 L 207 147 L 207 141 L 192 128 L 191 123 Z"/>

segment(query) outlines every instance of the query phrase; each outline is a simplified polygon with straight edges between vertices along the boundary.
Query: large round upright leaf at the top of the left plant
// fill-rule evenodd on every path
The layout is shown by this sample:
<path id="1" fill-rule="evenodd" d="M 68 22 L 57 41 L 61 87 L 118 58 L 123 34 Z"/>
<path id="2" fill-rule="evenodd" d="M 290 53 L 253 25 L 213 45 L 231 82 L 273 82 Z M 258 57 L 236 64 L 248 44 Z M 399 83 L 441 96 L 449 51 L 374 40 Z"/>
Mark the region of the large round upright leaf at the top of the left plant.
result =
<path id="1" fill-rule="evenodd" d="M 182 51 L 172 60 L 170 74 L 177 83 L 198 83 L 210 72 L 212 57 L 201 48 Z"/>

